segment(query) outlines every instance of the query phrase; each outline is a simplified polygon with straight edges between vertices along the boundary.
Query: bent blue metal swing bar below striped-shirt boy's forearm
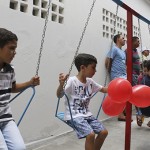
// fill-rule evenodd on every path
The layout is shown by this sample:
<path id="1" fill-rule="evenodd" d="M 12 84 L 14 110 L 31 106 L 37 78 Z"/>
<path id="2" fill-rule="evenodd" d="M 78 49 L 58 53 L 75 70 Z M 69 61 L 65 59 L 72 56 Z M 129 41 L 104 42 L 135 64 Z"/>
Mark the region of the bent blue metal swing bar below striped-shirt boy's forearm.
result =
<path id="1" fill-rule="evenodd" d="M 32 93 L 32 95 L 31 95 L 31 97 L 30 97 L 30 99 L 29 99 L 29 101 L 28 101 L 28 103 L 27 103 L 27 105 L 26 105 L 24 111 L 22 112 L 21 117 L 19 118 L 19 121 L 18 121 L 18 123 L 17 123 L 17 126 L 20 125 L 20 123 L 21 123 L 21 121 L 22 121 L 22 119 L 23 119 L 25 113 L 27 112 L 27 110 L 28 110 L 28 108 L 29 108 L 29 106 L 30 106 L 30 104 L 31 104 L 31 102 L 32 102 L 32 100 L 33 100 L 33 97 L 35 96 L 35 88 L 34 88 L 34 86 L 28 86 L 27 88 L 23 89 L 21 92 L 19 92 L 17 95 L 15 95 L 15 96 L 10 100 L 10 102 L 12 102 L 15 98 L 17 98 L 20 94 L 22 94 L 22 93 L 23 93 L 25 90 L 27 90 L 28 88 L 32 88 L 33 93 Z"/>

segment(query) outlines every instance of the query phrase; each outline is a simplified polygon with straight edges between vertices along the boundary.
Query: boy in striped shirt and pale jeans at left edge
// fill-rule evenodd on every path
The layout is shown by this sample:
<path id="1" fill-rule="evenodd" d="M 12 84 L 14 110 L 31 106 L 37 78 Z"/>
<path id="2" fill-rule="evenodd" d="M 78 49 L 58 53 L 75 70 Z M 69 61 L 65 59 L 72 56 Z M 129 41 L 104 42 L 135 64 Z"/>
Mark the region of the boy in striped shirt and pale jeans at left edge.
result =
<path id="1" fill-rule="evenodd" d="M 30 85 L 39 85 L 39 77 L 16 83 L 14 67 L 10 64 L 16 55 L 17 36 L 0 28 L 0 150 L 25 150 L 23 138 L 12 117 L 9 105 L 11 93 Z"/>

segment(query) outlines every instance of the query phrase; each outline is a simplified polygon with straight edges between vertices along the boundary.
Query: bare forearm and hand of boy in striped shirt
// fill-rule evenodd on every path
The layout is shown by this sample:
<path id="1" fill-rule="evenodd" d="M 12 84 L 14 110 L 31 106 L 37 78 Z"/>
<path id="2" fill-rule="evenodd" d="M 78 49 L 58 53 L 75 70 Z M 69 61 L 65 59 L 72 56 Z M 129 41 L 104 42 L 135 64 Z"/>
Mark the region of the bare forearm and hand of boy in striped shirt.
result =
<path id="1" fill-rule="evenodd" d="M 33 77 L 30 81 L 24 82 L 24 83 L 14 83 L 12 85 L 12 93 L 17 93 L 23 90 L 24 88 L 27 88 L 28 86 L 36 86 L 40 84 L 40 78 L 39 77 Z"/>

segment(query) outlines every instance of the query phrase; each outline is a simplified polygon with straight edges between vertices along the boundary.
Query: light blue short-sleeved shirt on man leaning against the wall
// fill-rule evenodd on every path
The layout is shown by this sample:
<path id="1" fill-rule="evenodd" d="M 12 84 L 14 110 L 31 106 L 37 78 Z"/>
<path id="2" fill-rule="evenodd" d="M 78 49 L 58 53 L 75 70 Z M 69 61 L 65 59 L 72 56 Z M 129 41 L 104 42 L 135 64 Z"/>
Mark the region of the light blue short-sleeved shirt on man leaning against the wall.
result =
<path id="1" fill-rule="evenodd" d="M 108 58 L 112 59 L 112 66 L 110 77 L 111 80 L 114 78 L 127 78 L 126 73 L 126 54 L 125 51 L 114 46 L 107 54 Z"/>

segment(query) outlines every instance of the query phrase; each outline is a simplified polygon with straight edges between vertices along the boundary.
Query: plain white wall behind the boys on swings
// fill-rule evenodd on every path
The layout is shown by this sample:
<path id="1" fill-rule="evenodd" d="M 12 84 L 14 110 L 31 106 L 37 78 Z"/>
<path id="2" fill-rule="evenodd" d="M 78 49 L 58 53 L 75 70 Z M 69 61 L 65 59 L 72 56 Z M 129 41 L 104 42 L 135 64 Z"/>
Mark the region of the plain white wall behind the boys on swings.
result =
<path id="1" fill-rule="evenodd" d="M 71 130 L 54 116 L 57 104 L 55 93 L 59 84 L 58 74 L 69 71 L 92 2 L 93 0 L 65 0 L 64 24 L 52 21 L 48 23 L 39 69 L 41 85 L 36 87 L 35 98 L 19 126 L 26 143 Z M 44 20 L 9 9 L 8 6 L 9 0 L 0 1 L 0 27 L 15 32 L 19 37 L 17 55 L 13 64 L 17 81 L 22 82 L 35 75 Z M 140 6 L 145 7 L 145 4 L 140 3 Z M 97 73 L 94 79 L 103 85 L 106 76 L 104 60 L 110 49 L 111 40 L 102 37 L 102 8 L 115 13 L 116 4 L 111 0 L 97 0 L 79 52 L 90 53 L 97 57 Z M 146 9 L 141 11 L 149 13 Z M 119 8 L 119 16 L 126 18 L 126 12 L 122 8 Z M 146 30 L 144 25 L 143 27 L 143 30 Z M 146 37 L 144 41 L 148 43 Z M 73 67 L 71 75 L 76 73 Z M 19 97 L 20 100 L 12 103 L 16 120 L 29 96 L 30 92 L 27 92 Z M 103 94 L 98 94 L 91 102 L 94 114 L 98 111 L 102 97 Z M 108 116 L 102 112 L 100 119 L 106 118 Z"/>

